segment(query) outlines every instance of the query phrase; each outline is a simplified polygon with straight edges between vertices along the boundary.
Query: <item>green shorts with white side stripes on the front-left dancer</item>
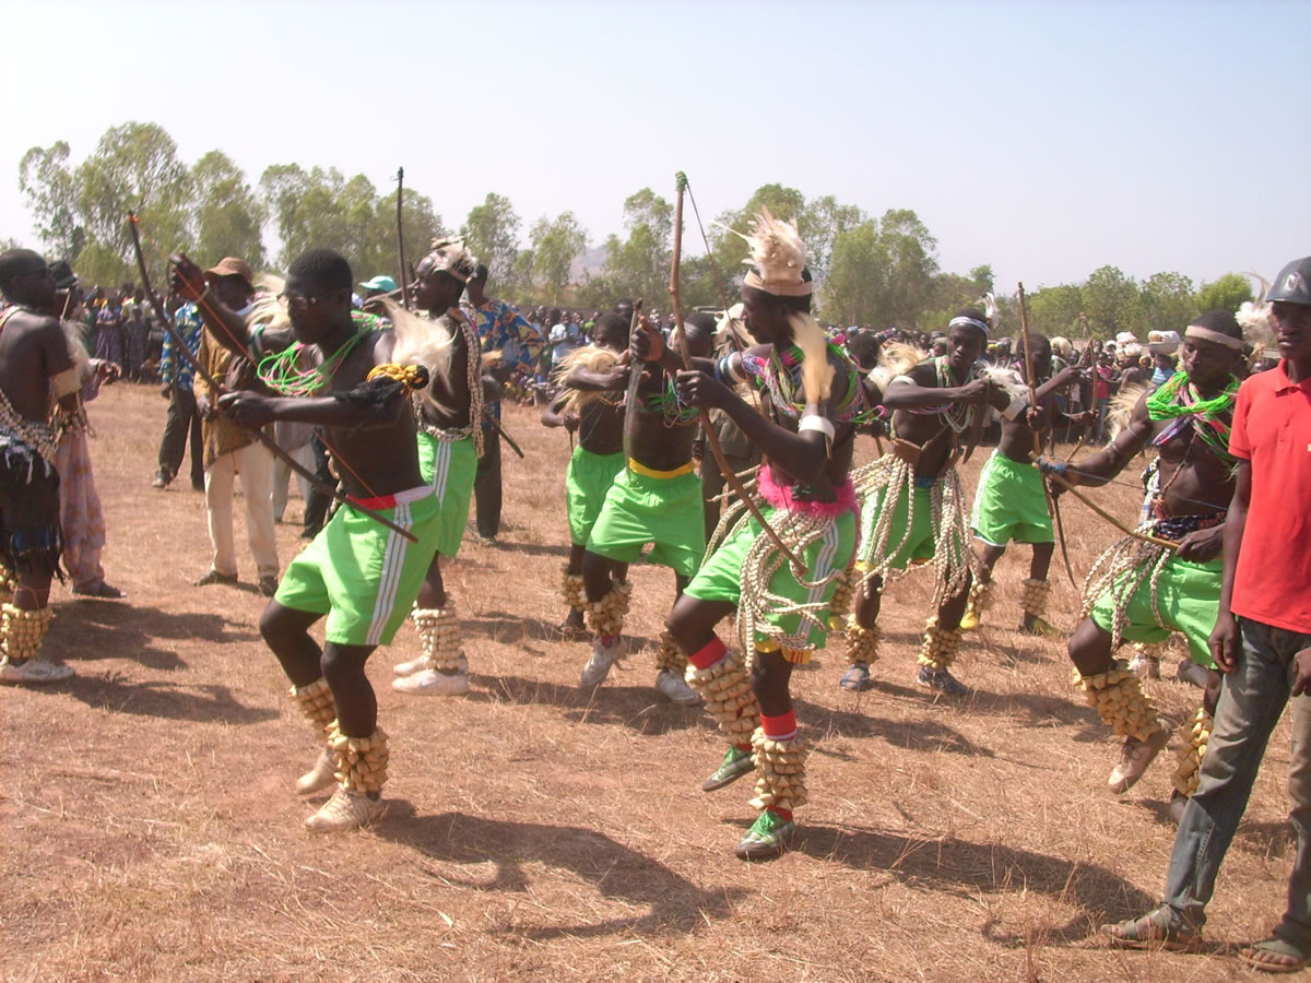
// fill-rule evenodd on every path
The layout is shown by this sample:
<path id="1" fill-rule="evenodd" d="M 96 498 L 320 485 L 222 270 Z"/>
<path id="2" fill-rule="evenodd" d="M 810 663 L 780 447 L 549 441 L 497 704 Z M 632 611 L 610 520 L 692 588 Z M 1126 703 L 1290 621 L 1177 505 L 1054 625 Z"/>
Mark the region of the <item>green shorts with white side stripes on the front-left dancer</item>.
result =
<path id="1" fill-rule="evenodd" d="M 370 507 L 418 536 L 404 536 L 342 506 L 315 541 L 291 561 L 274 600 L 328 615 L 324 637 L 337 645 L 388 645 L 409 615 L 433 564 L 442 506 L 427 486 L 388 495 Z"/>

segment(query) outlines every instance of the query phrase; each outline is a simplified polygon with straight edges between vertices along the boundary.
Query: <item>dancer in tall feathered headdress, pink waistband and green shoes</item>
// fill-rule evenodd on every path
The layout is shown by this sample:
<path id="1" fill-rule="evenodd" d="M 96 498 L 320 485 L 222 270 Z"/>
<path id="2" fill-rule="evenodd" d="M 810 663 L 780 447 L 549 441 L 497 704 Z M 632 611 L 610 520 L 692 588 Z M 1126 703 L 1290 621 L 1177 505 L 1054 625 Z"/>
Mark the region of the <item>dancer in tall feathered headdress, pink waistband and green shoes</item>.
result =
<path id="1" fill-rule="evenodd" d="M 808 747 L 797 734 L 792 667 L 823 647 L 829 604 L 856 540 L 856 495 L 848 477 L 853 422 L 864 389 L 846 351 L 810 316 L 813 283 L 801 239 L 762 210 L 747 237 L 754 267 L 742 286 L 747 328 L 758 345 L 679 372 L 678 392 L 696 406 L 724 410 L 763 453 L 755 501 L 784 556 L 743 503 L 720 522 L 724 543 L 674 603 L 669 629 L 690 653 L 687 680 L 701 692 L 729 742 L 722 764 L 701 784 L 724 788 L 755 771 L 759 810 L 737 856 L 777 856 L 806 802 Z M 678 357 L 658 334 L 633 338 L 638 358 L 667 370 Z M 732 387 L 760 393 L 756 412 Z M 716 625 L 737 611 L 735 651 Z"/>

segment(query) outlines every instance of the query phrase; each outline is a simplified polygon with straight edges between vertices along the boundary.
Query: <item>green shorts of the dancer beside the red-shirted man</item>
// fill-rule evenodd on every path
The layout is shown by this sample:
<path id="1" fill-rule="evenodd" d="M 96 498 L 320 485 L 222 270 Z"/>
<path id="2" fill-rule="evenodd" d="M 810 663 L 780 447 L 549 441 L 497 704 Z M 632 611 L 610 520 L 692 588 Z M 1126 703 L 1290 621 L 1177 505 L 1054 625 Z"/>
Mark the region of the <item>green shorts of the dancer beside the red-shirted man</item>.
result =
<path id="1" fill-rule="evenodd" d="M 1155 645 L 1169 638 L 1171 632 L 1181 632 L 1188 638 L 1188 654 L 1193 662 L 1214 668 L 1209 640 L 1221 609 L 1223 570 L 1222 558 L 1206 564 L 1171 558 L 1156 582 L 1156 607 L 1165 626 L 1156 624 L 1151 603 L 1151 578 L 1147 577 L 1129 599 L 1122 637 L 1131 642 Z M 1117 578 L 1116 585 L 1121 583 L 1124 578 Z M 1097 598 L 1092 611 L 1088 612 L 1097 628 L 1104 632 L 1110 632 L 1113 626 L 1116 604 L 1112 592 Z"/>

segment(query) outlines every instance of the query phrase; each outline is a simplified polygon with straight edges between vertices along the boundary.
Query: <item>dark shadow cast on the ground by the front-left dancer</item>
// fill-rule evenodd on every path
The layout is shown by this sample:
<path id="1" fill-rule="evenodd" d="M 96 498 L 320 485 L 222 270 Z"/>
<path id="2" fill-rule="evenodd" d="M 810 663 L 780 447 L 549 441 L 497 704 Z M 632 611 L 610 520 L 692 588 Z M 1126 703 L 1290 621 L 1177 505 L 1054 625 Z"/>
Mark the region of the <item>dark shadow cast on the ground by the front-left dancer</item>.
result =
<path id="1" fill-rule="evenodd" d="M 528 938 L 669 935 L 696 931 L 707 920 L 733 914 L 746 891 L 701 890 L 604 834 L 579 826 L 482 819 L 463 813 L 420 815 L 405 801 L 392 801 L 378 835 L 443 864 L 492 864 L 494 877 L 460 879 L 450 869 L 434 877 L 479 891 L 530 893 L 527 864 L 564 869 L 590 883 L 602 898 L 646 908 L 645 915 L 562 925 L 505 925 L 496 931 Z"/>

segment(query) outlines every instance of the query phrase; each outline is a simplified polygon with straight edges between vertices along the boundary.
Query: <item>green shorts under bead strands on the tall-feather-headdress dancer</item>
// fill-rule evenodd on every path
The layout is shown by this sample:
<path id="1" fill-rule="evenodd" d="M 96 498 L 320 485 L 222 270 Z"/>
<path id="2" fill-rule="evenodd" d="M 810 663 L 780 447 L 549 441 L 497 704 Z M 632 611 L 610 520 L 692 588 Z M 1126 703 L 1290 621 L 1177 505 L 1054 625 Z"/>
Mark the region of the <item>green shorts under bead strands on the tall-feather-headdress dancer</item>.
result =
<path id="1" fill-rule="evenodd" d="M 771 506 L 764 506 L 760 511 L 766 522 L 768 522 L 776 510 Z M 728 539 L 724 540 L 724 544 L 707 558 L 705 565 L 692 578 L 692 582 L 687 585 L 684 594 L 690 594 L 697 600 L 722 600 L 735 606 L 742 596 L 742 561 L 746 560 L 747 550 L 751 549 L 751 544 L 755 543 L 756 536 L 762 535 L 764 533 L 760 530 L 760 523 L 755 520 L 755 516 L 747 515 L 733 528 Z M 844 570 L 851 561 L 855 545 L 856 516 L 847 511 L 834 519 L 821 539 L 806 547 L 801 557 L 806 564 L 806 579 L 814 582 L 829 577 L 834 570 Z M 802 586 L 792 575 L 787 561 L 770 578 L 770 594 L 797 603 L 817 604 L 822 602 L 827 604 L 832 600 L 836 590 L 836 578 L 830 581 L 822 590 Z M 817 617 L 821 624 L 827 625 L 827 608 L 819 611 Z M 801 615 L 767 613 L 764 620 L 788 634 L 796 634 L 801 630 Z M 827 629 L 812 624 L 808 646 L 822 649 L 827 637 Z M 754 638 L 753 642 L 759 642 L 763 638 L 764 636 L 760 636 L 759 638 Z"/>

